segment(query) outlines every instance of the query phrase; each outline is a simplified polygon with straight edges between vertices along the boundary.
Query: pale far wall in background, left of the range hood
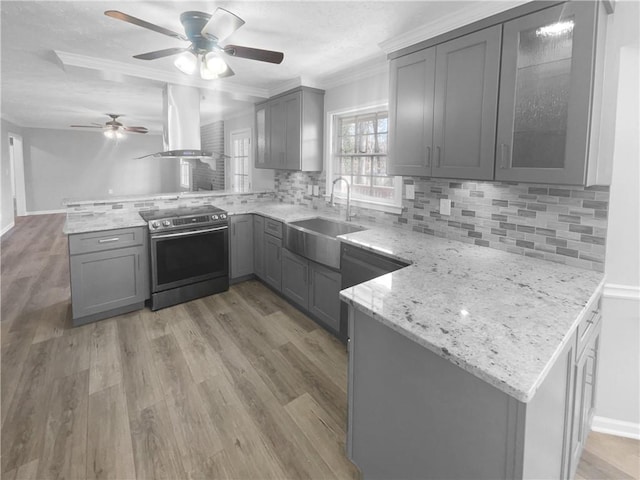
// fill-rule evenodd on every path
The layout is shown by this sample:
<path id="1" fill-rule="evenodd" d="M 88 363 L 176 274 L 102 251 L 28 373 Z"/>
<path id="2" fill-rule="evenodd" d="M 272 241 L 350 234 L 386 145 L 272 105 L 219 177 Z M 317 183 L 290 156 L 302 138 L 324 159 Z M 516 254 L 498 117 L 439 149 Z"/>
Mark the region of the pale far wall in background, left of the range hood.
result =
<path id="1" fill-rule="evenodd" d="M 23 128 L 27 212 L 62 209 L 64 198 L 108 198 L 178 191 L 175 159 L 145 158 L 162 151 L 161 135 L 128 135 L 114 142 L 100 132 Z"/>

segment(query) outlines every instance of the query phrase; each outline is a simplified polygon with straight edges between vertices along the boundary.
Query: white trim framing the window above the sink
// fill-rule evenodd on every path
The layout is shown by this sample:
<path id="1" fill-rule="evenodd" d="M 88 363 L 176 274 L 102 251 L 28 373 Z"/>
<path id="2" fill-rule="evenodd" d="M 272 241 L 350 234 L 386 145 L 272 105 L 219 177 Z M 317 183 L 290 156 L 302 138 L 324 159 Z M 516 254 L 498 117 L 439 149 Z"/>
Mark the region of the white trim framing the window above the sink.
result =
<path id="1" fill-rule="evenodd" d="M 389 109 L 389 105 L 387 102 L 376 102 L 368 105 L 363 105 L 359 107 L 350 107 L 340 110 L 332 110 L 327 112 L 326 117 L 326 125 L 325 131 L 328 134 L 325 136 L 325 157 L 324 157 L 324 169 L 326 176 L 326 189 L 325 189 L 325 200 L 329 200 L 331 198 L 331 187 L 332 187 L 332 178 L 333 178 L 333 150 L 332 150 L 332 142 L 334 138 L 334 130 L 336 125 L 336 118 L 342 115 L 349 114 L 366 114 L 366 113 L 374 113 L 379 110 L 387 110 Z M 387 157 L 388 158 L 388 157 Z M 351 205 L 356 207 L 368 208 L 370 210 L 377 210 L 380 212 L 387 213 L 402 213 L 402 177 L 396 176 L 393 180 L 394 187 L 394 196 L 393 203 L 379 203 L 371 200 L 361 200 L 361 199 L 351 199 Z M 335 195 L 334 198 L 335 203 L 339 205 L 346 205 L 347 199 L 346 197 L 341 197 Z"/>

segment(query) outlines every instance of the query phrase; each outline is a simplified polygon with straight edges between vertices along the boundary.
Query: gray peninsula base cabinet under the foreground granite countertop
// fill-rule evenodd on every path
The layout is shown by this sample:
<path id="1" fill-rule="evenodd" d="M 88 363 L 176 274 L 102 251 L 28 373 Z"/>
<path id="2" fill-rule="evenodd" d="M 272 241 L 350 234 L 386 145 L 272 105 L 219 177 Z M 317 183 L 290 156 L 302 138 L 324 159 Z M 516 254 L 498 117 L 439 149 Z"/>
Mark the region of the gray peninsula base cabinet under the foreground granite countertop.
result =
<path id="1" fill-rule="evenodd" d="M 367 480 L 573 478 L 596 389 L 585 325 L 524 403 L 349 307 L 349 458 Z"/>

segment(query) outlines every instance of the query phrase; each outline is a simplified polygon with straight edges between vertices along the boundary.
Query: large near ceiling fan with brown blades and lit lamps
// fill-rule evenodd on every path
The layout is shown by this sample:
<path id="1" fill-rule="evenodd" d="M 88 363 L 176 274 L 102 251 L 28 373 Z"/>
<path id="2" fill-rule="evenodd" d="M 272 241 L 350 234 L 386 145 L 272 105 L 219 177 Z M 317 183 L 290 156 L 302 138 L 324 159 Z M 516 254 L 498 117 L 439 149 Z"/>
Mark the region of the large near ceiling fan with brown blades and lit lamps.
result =
<path id="1" fill-rule="evenodd" d="M 107 10 L 104 14 L 169 37 L 191 42 L 188 47 L 166 48 L 134 55 L 133 58 L 155 60 L 156 58 L 181 54 L 174 62 L 174 65 L 188 75 L 193 74 L 199 67 L 200 77 L 205 80 L 229 77 L 234 74 L 233 70 L 229 68 L 222 58 L 222 53 L 232 57 L 277 64 L 284 59 L 282 52 L 273 50 L 262 50 L 239 45 L 220 45 L 220 42 L 224 41 L 245 23 L 240 17 L 224 8 L 217 8 L 213 14 L 196 11 L 182 13 L 180 22 L 184 27 L 184 35 L 117 10 Z"/>

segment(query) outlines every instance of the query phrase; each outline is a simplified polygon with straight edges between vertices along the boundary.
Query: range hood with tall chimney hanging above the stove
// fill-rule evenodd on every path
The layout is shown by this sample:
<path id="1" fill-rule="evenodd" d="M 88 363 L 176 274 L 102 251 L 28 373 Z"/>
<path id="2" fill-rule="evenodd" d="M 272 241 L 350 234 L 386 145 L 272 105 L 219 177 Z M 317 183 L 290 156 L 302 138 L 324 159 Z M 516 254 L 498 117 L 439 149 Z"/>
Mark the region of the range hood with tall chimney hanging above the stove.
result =
<path id="1" fill-rule="evenodd" d="M 147 156 L 160 158 L 196 158 L 212 164 L 226 155 L 202 150 L 200 143 L 200 90 L 196 87 L 167 84 L 162 91 L 164 151 Z"/>

